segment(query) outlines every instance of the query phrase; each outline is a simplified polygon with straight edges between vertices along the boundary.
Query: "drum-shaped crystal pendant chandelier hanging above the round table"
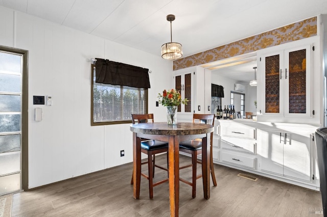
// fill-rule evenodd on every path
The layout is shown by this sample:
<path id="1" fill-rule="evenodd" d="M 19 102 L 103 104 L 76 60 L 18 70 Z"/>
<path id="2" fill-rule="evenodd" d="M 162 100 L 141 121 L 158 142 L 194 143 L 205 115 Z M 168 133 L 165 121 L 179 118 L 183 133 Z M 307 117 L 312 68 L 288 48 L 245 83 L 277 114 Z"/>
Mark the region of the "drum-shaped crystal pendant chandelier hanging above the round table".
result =
<path id="1" fill-rule="evenodd" d="M 172 21 L 175 20 L 175 15 L 167 15 L 167 20 L 170 21 L 170 42 L 161 46 L 161 57 L 166 60 L 177 60 L 183 56 L 182 45 L 172 40 Z"/>

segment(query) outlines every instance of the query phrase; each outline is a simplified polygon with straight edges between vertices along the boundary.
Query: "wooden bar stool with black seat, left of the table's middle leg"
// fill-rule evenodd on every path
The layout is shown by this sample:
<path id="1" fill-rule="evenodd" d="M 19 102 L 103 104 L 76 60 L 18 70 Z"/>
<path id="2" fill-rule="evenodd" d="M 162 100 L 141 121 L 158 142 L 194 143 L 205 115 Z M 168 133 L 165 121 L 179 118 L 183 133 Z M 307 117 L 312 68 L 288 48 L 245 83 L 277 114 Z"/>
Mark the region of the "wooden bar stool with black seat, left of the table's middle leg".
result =
<path id="1" fill-rule="evenodd" d="M 132 123 L 148 123 L 149 120 L 152 120 L 152 123 L 154 122 L 153 114 L 132 114 Z M 153 183 L 153 177 L 154 177 L 154 168 L 157 167 L 159 169 L 165 170 L 168 172 L 168 155 L 167 155 L 167 168 L 160 167 L 155 164 L 155 154 L 158 153 L 164 153 L 168 151 L 168 143 L 155 141 L 155 140 L 147 140 L 142 139 L 141 140 L 141 151 L 142 153 L 145 153 L 148 155 L 148 160 L 145 162 L 142 162 L 141 165 L 148 164 L 148 171 L 149 175 L 146 175 L 144 173 L 141 173 L 142 176 L 147 178 L 149 180 L 149 194 L 150 199 L 153 198 L 153 187 L 167 182 L 167 179 L 158 181 L 156 183 Z M 132 174 L 132 180 L 131 184 L 133 184 L 133 174 Z"/>

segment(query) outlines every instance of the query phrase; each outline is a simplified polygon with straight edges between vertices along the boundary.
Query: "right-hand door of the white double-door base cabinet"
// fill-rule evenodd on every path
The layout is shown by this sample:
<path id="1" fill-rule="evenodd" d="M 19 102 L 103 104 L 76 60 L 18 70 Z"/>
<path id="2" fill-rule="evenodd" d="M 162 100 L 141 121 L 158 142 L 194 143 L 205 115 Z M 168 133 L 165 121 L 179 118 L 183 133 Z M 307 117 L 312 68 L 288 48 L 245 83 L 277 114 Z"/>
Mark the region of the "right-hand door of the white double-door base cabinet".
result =
<path id="1" fill-rule="evenodd" d="M 311 180 L 311 135 L 287 133 L 284 144 L 284 175 Z"/>

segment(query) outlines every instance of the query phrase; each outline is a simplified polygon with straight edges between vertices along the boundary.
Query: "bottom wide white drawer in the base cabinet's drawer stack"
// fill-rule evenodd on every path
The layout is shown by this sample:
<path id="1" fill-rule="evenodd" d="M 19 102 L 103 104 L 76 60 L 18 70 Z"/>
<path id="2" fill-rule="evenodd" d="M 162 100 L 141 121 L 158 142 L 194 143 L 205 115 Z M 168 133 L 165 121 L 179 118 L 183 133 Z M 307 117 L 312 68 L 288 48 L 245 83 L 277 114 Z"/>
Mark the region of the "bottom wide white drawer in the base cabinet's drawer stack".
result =
<path id="1" fill-rule="evenodd" d="M 242 156 L 239 154 L 229 153 L 222 151 L 221 152 L 221 160 L 228 164 L 238 165 L 241 167 L 256 169 L 256 158 Z"/>

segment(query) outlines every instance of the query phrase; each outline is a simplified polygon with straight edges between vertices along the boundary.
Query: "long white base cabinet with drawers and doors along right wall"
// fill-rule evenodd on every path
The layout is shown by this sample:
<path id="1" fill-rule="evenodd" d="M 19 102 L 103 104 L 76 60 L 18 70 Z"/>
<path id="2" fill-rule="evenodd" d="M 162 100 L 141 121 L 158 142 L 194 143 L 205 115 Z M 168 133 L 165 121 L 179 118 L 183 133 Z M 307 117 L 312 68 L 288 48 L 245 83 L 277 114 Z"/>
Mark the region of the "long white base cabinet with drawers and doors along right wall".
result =
<path id="1" fill-rule="evenodd" d="M 214 162 L 319 191 L 315 125 L 215 120 Z"/>

